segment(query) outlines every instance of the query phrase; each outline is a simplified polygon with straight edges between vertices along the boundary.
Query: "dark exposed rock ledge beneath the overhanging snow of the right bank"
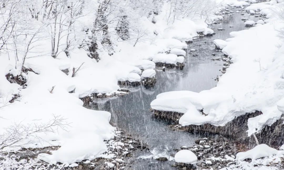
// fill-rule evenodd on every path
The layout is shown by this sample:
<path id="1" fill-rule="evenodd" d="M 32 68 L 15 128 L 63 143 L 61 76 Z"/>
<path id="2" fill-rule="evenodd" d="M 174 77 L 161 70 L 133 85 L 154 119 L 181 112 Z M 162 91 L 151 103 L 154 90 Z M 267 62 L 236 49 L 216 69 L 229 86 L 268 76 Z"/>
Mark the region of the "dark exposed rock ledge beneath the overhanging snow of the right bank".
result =
<path id="1" fill-rule="evenodd" d="M 227 123 L 225 126 L 214 126 L 211 124 L 203 124 L 200 126 L 180 126 L 178 125 L 179 118 L 183 115 L 178 112 L 163 112 L 153 110 L 154 117 L 167 121 L 172 124 L 172 129 L 182 129 L 194 134 L 212 135 L 218 134 L 230 139 L 237 140 L 242 143 L 255 143 L 253 137 L 247 136 L 247 122 L 249 118 L 261 115 L 262 112 L 256 111 L 253 113 L 246 113 L 242 116 L 236 117 L 233 121 Z M 256 134 L 260 143 L 266 143 L 270 146 L 281 146 L 284 143 L 284 124 L 283 118 L 277 120 L 272 126 L 265 126 L 261 133 Z"/>

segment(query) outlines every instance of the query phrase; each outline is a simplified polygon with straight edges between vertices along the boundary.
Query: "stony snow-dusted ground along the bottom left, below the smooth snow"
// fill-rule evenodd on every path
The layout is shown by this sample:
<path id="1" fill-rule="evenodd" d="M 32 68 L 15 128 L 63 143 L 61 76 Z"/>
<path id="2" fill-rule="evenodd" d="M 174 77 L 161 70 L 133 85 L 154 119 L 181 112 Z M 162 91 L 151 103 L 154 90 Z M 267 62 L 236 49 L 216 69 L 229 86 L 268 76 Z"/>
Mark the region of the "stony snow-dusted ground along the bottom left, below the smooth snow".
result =
<path id="1" fill-rule="evenodd" d="M 123 131 L 116 129 L 114 138 L 105 141 L 107 151 L 102 153 L 98 158 L 93 160 L 82 160 L 80 162 L 53 163 L 48 164 L 46 159 L 60 146 L 48 146 L 45 148 L 22 148 L 14 152 L 1 153 L 0 167 L 1 169 L 97 169 L 112 170 L 124 169 L 128 167 L 127 159 L 133 157 L 135 150 L 149 150 L 147 145 L 137 139 L 133 139 L 131 135 L 127 135 Z M 40 156 L 40 159 L 38 159 Z"/>

